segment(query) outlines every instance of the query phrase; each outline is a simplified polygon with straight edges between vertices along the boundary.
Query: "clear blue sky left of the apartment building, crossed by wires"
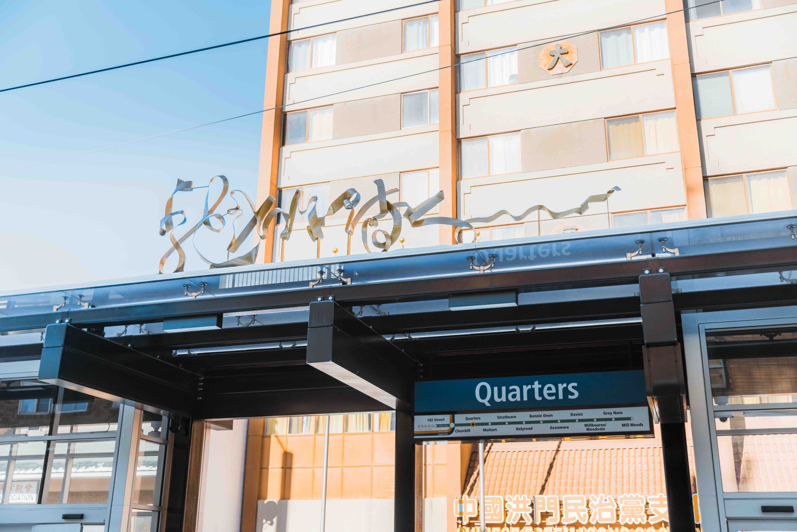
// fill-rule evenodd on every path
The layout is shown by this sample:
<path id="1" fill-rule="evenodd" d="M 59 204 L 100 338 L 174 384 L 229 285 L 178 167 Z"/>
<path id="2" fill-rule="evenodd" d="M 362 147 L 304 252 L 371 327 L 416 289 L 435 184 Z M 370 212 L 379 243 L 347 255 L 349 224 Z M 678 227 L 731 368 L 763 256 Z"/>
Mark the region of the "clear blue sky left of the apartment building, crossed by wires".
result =
<path id="1" fill-rule="evenodd" d="M 3 0 L 0 85 L 254 37 L 268 26 L 268 0 Z M 0 93 L 0 172 L 260 110 L 266 48 L 254 41 Z M 224 174 L 254 199 L 260 128 L 261 116 L 249 116 L 0 173 L 0 291 L 157 273 L 169 247 L 159 220 L 177 179 L 202 185 Z M 175 207 L 195 221 L 205 191 L 183 193 Z M 207 248 L 210 258 L 224 260 L 221 249 Z M 189 255 L 186 270 L 204 267 Z"/>

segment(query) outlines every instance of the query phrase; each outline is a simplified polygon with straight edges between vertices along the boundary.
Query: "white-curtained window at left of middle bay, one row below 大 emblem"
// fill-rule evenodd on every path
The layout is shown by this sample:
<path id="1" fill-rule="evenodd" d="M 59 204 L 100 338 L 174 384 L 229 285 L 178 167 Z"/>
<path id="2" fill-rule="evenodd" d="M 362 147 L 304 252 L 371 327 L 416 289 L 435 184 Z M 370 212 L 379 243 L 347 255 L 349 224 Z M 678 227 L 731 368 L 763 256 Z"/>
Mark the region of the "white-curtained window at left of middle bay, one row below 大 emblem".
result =
<path id="1" fill-rule="evenodd" d="M 462 140 L 462 179 L 520 171 L 520 132 Z"/>

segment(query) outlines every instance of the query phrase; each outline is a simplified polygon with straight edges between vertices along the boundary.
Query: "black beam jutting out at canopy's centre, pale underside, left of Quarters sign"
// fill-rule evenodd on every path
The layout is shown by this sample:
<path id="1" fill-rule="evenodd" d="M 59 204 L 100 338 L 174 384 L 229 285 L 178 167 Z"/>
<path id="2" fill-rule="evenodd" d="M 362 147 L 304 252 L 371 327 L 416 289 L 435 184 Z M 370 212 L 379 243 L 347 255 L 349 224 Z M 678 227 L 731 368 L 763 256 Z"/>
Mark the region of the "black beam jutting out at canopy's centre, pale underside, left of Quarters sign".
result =
<path id="1" fill-rule="evenodd" d="M 413 404 L 414 361 L 335 301 L 310 304 L 307 363 L 390 408 Z"/>

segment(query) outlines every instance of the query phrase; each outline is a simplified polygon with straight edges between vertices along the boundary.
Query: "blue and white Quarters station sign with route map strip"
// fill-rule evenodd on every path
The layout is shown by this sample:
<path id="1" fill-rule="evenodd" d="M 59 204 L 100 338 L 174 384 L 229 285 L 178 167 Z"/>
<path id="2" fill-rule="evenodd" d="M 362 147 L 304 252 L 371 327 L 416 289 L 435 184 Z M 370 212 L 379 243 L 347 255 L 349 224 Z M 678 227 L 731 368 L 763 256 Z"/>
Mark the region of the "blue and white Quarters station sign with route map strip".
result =
<path id="1" fill-rule="evenodd" d="M 642 370 L 415 383 L 415 437 L 650 434 Z"/>

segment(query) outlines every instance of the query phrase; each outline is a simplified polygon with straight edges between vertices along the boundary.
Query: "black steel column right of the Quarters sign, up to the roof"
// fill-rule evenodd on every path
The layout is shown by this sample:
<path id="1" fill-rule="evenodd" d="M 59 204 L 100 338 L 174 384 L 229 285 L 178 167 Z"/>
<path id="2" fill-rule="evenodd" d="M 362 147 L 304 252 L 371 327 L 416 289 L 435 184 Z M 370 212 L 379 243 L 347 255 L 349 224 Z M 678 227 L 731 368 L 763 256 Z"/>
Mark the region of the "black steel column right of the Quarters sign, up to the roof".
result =
<path id="1" fill-rule="evenodd" d="M 686 454 L 686 386 L 669 274 L 639 278 L 648 402 L 661 424 L 671 532 L 694 532 L 692 483 Z"/>

